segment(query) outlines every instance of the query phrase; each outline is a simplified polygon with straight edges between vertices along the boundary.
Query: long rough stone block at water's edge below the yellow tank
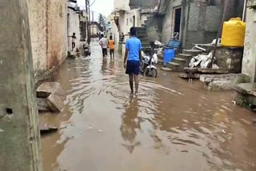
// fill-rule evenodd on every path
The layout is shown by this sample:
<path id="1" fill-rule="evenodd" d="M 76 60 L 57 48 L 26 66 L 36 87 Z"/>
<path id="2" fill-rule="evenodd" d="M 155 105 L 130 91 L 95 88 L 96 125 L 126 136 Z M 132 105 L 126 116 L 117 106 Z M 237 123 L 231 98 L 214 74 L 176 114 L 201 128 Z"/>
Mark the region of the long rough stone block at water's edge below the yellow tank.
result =
<path id="1" fill-rule="evenodd" d="M 203 74 L 200 81 L 205 83 L 206 89 L 232 89 L 239 83 L 250 82 L 246 74 Z"/>

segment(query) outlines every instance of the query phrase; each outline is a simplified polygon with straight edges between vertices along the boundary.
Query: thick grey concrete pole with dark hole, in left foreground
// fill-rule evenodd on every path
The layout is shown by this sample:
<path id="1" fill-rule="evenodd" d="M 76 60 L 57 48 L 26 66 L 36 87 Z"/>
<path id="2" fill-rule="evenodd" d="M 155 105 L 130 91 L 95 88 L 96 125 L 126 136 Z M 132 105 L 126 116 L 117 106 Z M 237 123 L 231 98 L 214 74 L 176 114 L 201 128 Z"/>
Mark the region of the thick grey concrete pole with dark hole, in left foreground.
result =
<path id="1" fill-rule="evenodd" d="M 41 171 L 27 1 L 0 8 L 0 170 Z"/>

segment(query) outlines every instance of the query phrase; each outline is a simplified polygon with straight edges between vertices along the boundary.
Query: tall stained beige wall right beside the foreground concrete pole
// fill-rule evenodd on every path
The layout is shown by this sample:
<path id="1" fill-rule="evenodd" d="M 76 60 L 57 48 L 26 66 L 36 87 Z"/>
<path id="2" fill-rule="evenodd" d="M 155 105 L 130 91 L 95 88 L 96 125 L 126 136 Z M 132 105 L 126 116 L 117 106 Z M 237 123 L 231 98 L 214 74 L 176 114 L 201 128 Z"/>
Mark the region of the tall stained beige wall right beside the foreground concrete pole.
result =
<path id="1" fill-rule="evenodd" d="M 30 0 L 30 34 L 36 82 L 50 78 L 67 54 L 66 1 Z"/>

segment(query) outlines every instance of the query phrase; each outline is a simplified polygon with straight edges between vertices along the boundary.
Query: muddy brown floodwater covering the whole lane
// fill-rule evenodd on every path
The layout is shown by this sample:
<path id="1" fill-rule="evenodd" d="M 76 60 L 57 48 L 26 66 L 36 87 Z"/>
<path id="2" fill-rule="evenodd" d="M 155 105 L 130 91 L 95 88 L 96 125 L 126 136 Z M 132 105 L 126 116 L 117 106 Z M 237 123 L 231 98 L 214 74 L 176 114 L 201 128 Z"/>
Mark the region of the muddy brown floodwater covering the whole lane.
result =
<path id="1" fill-rule="evenodd" d="M 60 128 L 42 137 L 45 171 L 256 170 L 256 115 L 232 91 L 159 71 L 130 96 L 122 66 L 118 54 L 102 61 L 96 40 L 91 57 L 62 65 L 66 107 L 41 116 Z"/>

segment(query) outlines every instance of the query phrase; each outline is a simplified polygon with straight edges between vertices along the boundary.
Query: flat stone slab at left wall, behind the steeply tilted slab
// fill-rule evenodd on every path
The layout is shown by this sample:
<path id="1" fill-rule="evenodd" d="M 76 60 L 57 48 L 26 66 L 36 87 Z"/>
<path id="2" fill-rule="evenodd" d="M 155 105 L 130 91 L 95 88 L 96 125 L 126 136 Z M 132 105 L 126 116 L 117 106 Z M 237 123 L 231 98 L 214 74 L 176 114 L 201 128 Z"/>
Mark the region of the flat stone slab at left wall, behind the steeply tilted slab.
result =
<path id="1" fill-rule="evenodd" d="M 50 94 L 54 92 L 54 89 L 58 89 L 60 86 L 58 82 L 44 82 L 37 89 L 37 97 L 49 97 Z"/>

